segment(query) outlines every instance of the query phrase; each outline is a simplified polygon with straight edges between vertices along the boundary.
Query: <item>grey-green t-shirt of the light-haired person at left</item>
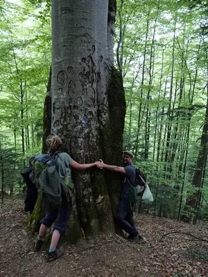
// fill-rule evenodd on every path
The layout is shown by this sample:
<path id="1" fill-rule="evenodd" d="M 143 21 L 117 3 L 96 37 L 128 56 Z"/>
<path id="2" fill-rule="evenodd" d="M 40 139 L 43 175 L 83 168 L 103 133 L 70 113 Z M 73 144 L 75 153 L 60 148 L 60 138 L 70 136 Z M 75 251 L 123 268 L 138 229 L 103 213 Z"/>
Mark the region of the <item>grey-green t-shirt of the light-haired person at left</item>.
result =
<path id="1" fill-rule="evenodd" d="M 69 180 L 71 180 L 71 169 L 69 168 L 69 164 L 72 163 L 73 159 L 66 152 L 59 153 L 58 156 L 56 160 L 56 169 L 60 177 L 68 177 Z"/>

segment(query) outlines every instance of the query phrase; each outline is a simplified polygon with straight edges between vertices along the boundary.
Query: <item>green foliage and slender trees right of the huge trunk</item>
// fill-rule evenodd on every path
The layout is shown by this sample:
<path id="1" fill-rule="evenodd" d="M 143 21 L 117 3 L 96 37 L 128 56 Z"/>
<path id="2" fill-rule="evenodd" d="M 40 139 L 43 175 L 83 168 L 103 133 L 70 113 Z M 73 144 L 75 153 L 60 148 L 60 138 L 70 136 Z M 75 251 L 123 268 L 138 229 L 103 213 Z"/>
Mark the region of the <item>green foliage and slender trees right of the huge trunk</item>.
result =
<path id="1" fill-rule="evenodd" d="M 122 5 L 121 5 L 122 3 Z M 205 1 L 119 1 L 116 56 L 127 112 L 124 148 L 147 173 L 154 213 L 179 218 L 193 184 L 207 106 Z M 200 206 L 202 217 L 205 203 Z M 149 209 L 153 213 L 153 207 Z M 196 214 L 194 207 L 184 211 Z"/>

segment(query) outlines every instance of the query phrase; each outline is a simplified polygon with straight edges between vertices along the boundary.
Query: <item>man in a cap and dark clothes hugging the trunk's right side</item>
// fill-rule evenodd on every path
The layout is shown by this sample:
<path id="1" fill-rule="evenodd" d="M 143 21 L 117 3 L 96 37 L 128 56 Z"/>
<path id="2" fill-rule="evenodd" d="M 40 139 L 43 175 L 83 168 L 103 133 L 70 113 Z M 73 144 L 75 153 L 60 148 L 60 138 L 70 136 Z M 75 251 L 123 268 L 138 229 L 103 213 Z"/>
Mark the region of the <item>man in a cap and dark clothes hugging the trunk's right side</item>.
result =
<path id="1" fill-rule="evenodd" d="M 107 170 L 120 172 L 123 175 L 121 197 L 119 207 L 114 215 L 114 223 L 119 228 L 129 234 L 128 239 L 131 242 L 137 243 L 143 237 L 139 235 L 139 231 L 135 227 L 135 222 L 132 216 L 132 206 L 130 205 L 130 194 L 132 186 L 135 186 L 135 168 L 132 166 L 134 155 L 130 151 L 123 152 L 123 166 L 110 166 L 101 161 L 101 166 Z"/>

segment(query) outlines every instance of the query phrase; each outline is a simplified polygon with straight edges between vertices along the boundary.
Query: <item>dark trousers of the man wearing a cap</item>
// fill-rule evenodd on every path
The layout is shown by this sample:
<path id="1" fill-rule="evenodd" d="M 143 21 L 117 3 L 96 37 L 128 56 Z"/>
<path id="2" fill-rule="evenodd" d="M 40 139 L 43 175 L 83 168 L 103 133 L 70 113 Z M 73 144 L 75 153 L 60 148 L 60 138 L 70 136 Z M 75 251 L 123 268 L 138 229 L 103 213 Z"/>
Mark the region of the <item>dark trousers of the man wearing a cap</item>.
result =
<path id="1" fill-rule="evenodd" d="M 128 198 L 121 198 L 116 215 L 114 216 L 114 223 L 116 226 L 128 233 L 131 238 L 138 235 L 138 231 L 135 228 L 135 222 L 132 217 L 132 211 L 129 211 L 128 208 Z"/>

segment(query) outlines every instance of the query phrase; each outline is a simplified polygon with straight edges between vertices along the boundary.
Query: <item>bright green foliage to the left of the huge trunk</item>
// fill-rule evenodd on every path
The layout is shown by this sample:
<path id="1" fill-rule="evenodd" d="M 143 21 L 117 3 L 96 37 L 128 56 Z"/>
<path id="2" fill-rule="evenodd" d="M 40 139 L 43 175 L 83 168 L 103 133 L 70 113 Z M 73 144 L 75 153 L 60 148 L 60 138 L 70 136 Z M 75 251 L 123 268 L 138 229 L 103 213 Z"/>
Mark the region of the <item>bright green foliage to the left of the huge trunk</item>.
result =
<path id="1" fill-rule="evenodd" d="M 38 3 L 37 3 L 38 2 Z M 24 187 L 20 172 L 42 148 L 42 117 L 51 66 L 51 3 L 1 1 L 0 137 L 5 189 Z M 1 5 L 2 4 L 2 5 Z M 1 174 L 2 175 L 2 174 Z"/>

